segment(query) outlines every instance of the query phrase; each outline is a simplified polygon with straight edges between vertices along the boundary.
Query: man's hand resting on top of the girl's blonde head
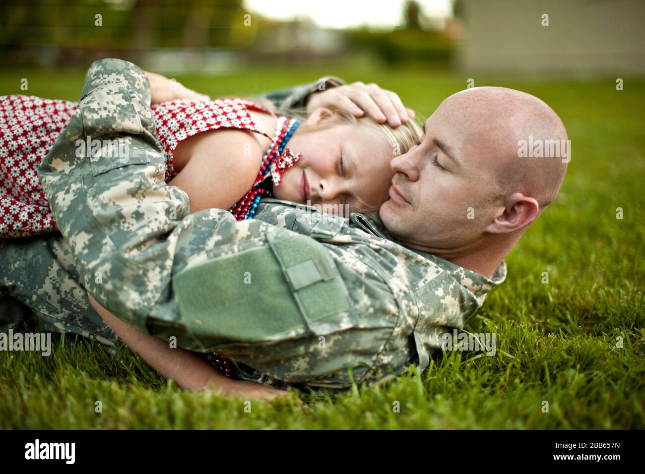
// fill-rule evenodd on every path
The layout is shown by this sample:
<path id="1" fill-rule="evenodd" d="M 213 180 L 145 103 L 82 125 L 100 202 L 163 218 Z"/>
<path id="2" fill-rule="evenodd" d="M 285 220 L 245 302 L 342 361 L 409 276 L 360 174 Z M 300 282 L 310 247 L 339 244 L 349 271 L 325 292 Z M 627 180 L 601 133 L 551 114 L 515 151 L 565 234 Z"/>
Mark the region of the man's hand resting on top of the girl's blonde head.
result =
<path id="1" fill-rule="evenodd" d="M 381 89 L 376 84 L 363 84 L 360 81 L 310 95 L 307 113 L 328 106 L 335 106 L 356 117 L 367 113 L 378 123 L 387 121 L 392 127 L 414 119 L 413 110 L 404 107 L 397 94 Z"/>

